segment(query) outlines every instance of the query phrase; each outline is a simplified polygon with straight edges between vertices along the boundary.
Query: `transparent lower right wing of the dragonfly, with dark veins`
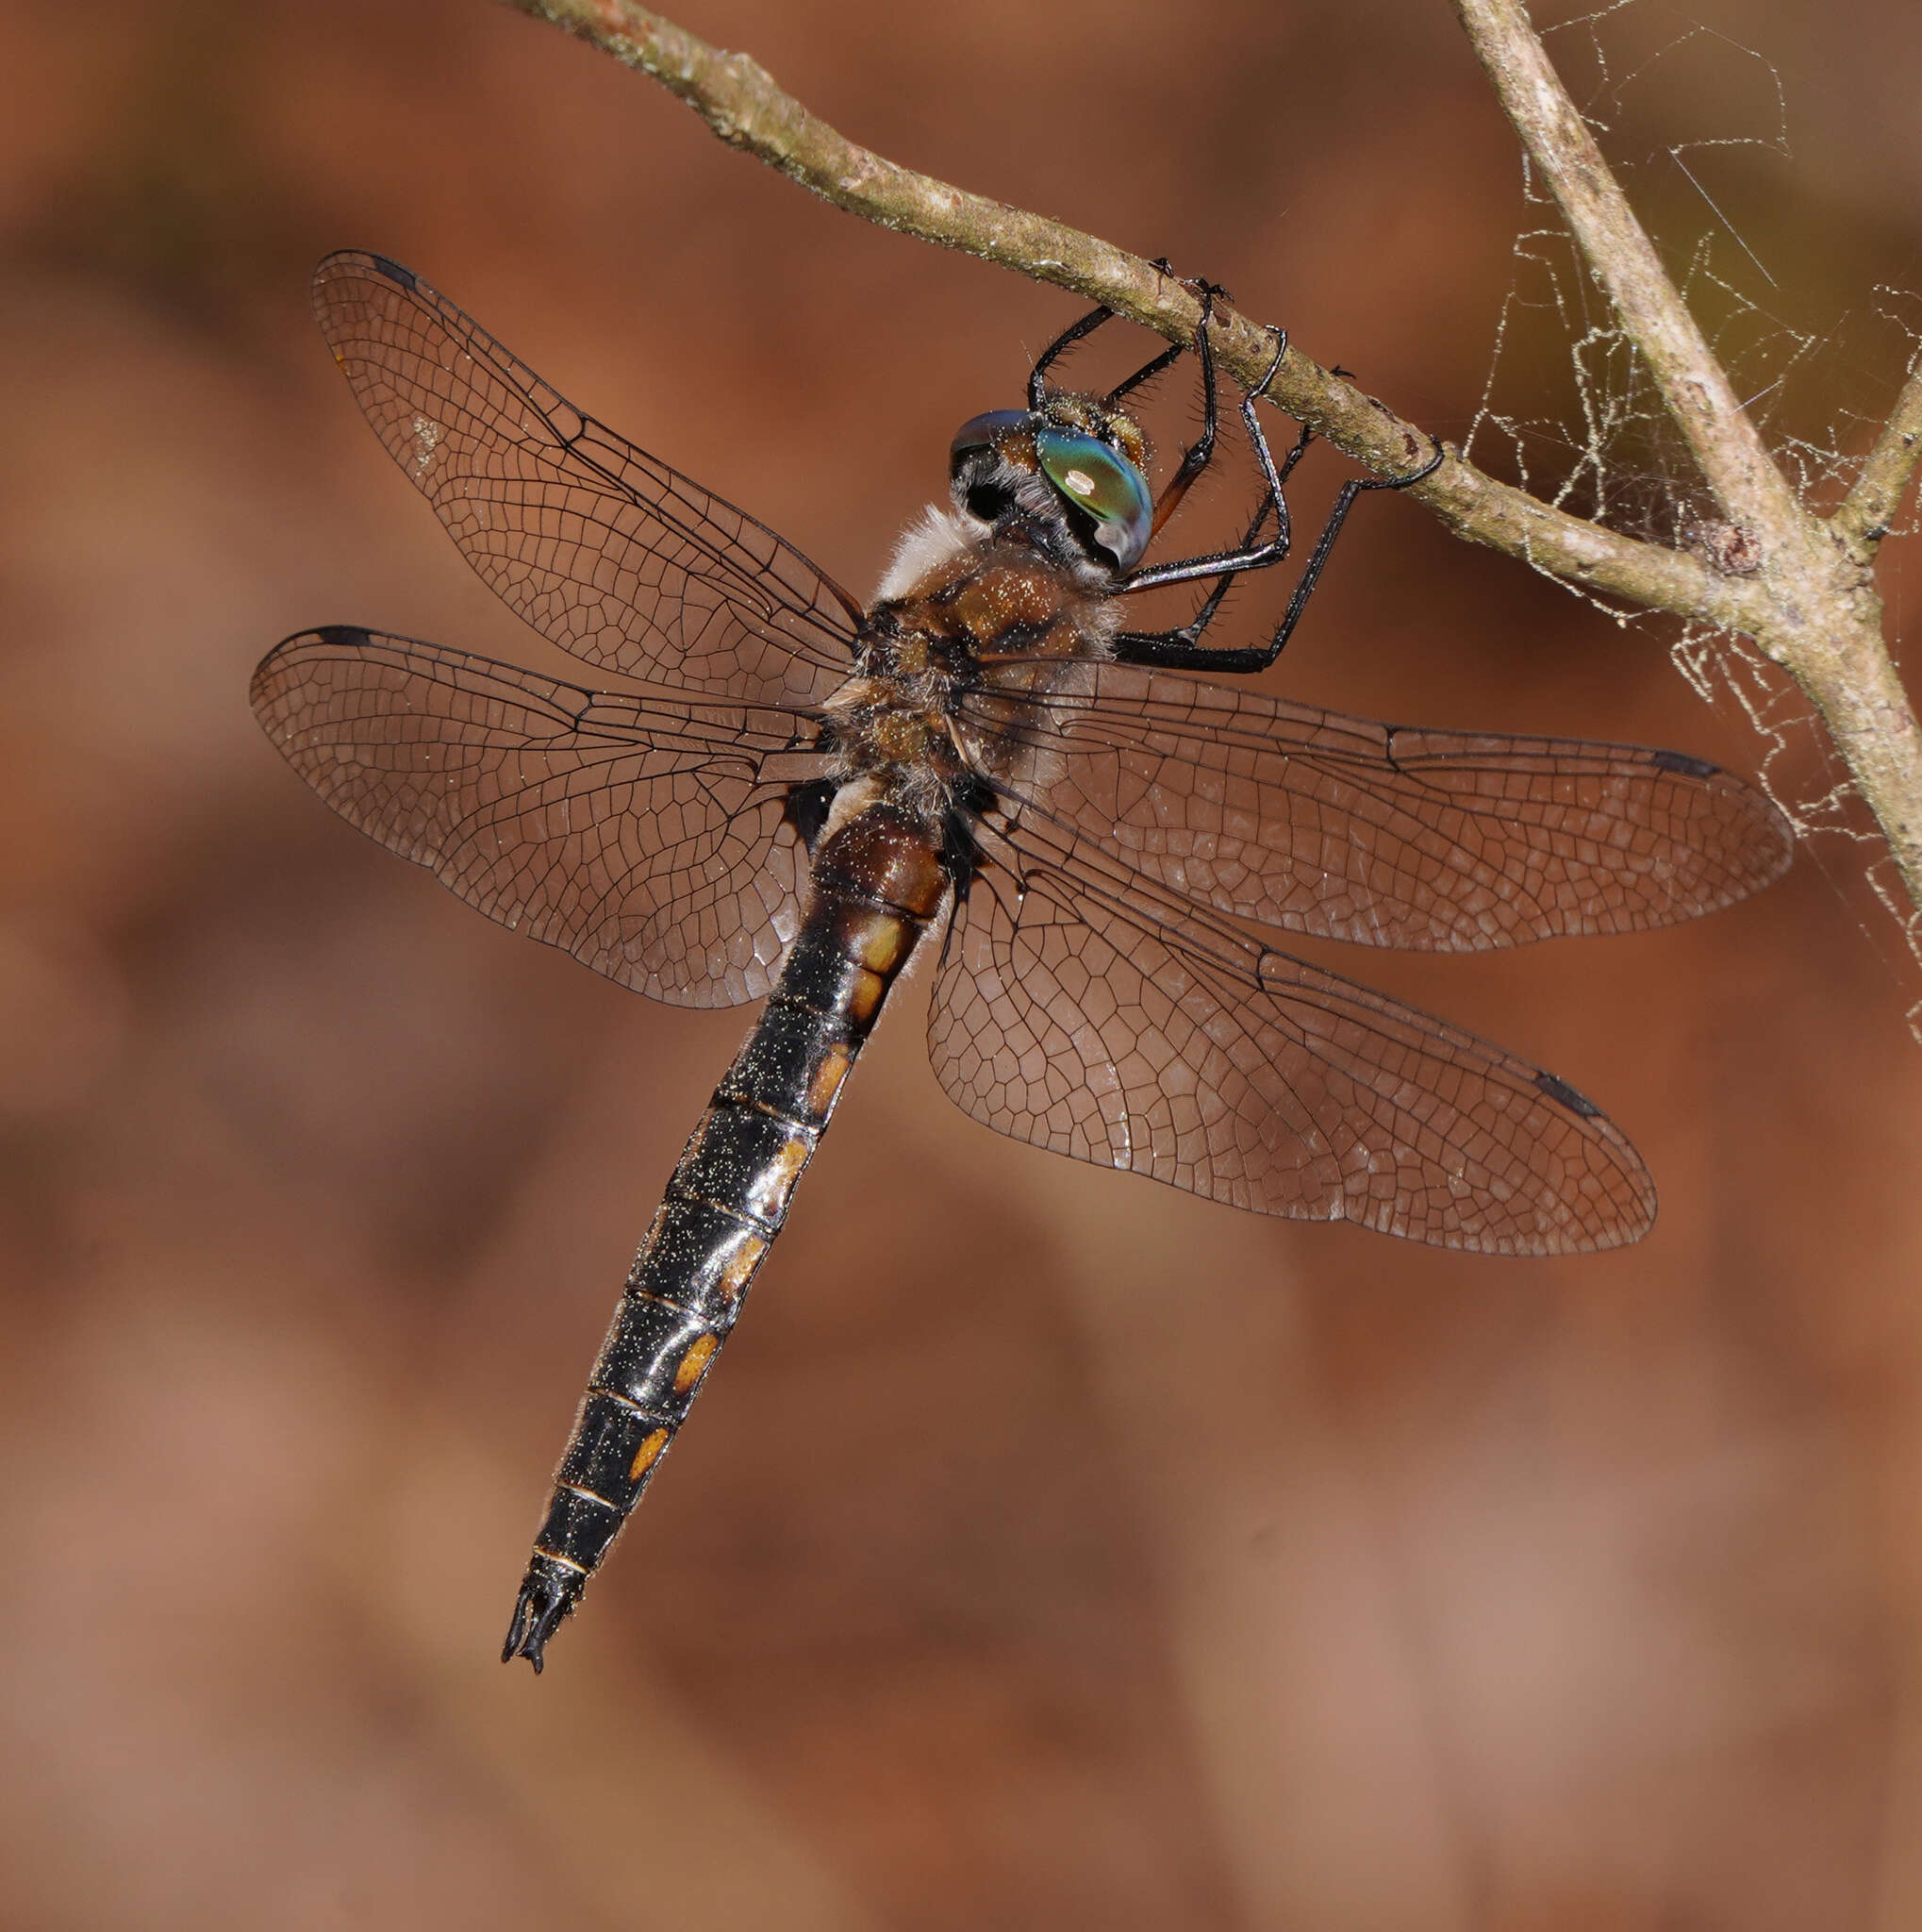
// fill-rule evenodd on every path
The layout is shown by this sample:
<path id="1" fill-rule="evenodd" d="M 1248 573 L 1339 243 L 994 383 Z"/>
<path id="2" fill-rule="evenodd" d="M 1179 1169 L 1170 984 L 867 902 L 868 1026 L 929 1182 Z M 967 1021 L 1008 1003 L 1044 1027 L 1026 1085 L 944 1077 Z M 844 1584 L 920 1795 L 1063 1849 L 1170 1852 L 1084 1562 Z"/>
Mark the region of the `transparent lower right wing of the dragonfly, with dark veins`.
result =
<path id="1" fill-rule="evenodd" d="M 1638 1238 L 1655 1190 L 1572 1088 L 1184 914 L 1032 825 L 983 833 L 929 1053 L 1003 1134 L 1259 1213 L 1445 1248 Z"/>

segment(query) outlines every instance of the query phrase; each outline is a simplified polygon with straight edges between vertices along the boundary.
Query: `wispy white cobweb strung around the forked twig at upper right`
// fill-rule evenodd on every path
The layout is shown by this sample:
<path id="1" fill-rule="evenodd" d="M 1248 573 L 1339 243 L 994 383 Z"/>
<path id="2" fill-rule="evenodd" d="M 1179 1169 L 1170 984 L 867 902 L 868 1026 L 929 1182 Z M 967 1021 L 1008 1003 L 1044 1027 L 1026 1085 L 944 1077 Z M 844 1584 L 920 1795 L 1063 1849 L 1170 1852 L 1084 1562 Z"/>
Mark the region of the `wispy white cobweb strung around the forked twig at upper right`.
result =
<path id="1" fill-rule="evenodd" d="M 1791 199 L 1781 193 L 1781 170 L 1793 160 L 1787 93 L 1756 48 L 1659 0 L 1611 0 L 1541 33 L 1775 460 L 1804 504 L 1833 510 L 1922 357 L 1922 301 L 1878 288 L 1864 311 L 1820 328 L 1789 319 L 1810 298 L 1795 276 L 1791 286 L 1779 282 L 1769 259 L 1777 247 L 1789 257 L 1795 242 L 1773 218 Z M 1675 141 L 1675 126 L 1686 126 L 1688 139 Z M 1522 199 L 1514 278 L 1464 454 L 1572 516 L 1690 551 L 1731 574 L 1756 568 L 1754 541 L 1723 520 L 1646 361 L 1526 158 Z M 1912 531 L 1914 520 L 1895 535 Z M 1849 881 L 1866 871 L 1901 958 L 1881 918 L 1862 931 L 1914 985 L 1922 916 L 1787 672 L 1746 638 L 1692 622 L 1675 634 L 1677 620 L 1663 612 L 1563 589 L 1625 628 L 1669 628 L 1671 657 L 1688 684 L 1708 703 L 1735 705 L 1756 732 L 1760 782 L 1810 856 L 1849 896 Z M 1922 1041 L 1922 999 L 1908 1009 L 1908 1028 Z"/>

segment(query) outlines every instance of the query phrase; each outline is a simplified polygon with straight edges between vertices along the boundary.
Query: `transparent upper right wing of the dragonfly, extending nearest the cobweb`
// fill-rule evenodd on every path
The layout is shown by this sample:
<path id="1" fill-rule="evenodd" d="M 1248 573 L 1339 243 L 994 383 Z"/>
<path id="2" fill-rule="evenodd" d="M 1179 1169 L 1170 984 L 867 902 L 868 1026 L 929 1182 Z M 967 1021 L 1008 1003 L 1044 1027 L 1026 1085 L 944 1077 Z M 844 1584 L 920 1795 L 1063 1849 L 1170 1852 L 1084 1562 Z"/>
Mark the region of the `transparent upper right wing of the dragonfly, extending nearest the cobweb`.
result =
<path id="1" fill-rule="evenodd" d="M 1702 759 L 1408 730 L 1130 665 L 964 699 L 1006 788 L 1174 893 L 1288 931 L 1480 951 L 1671 925 L 1789 866 L 1789 823 Z"/>

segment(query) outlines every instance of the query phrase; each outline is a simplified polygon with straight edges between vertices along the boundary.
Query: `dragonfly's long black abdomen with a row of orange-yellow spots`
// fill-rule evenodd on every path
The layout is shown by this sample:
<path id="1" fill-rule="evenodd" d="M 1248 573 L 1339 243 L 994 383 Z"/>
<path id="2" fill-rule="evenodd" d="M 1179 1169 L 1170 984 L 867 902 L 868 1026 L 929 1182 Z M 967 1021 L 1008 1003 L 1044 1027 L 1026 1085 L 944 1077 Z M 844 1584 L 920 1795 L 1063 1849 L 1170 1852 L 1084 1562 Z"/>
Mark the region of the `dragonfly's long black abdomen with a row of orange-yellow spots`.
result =
<path id="1" fill-rule="evenodd" d="M 639 1503 L 740 1316 L 887 991 L 948 873 L 869 806 L 821 846 L 813 900 L 628 1271 L 535 1536 L 502 1660 L 535 1669 Z"/>

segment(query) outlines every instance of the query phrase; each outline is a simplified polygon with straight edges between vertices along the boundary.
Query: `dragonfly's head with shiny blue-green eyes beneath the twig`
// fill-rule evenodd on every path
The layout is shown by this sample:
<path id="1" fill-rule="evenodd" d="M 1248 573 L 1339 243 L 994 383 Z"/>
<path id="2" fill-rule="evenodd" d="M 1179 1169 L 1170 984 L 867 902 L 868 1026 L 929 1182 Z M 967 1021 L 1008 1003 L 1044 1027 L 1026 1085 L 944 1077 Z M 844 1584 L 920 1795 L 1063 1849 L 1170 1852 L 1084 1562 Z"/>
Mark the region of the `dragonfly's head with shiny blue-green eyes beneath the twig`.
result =
<path id="1" fill-rule="evenodd" d="M 1049 396 L 1039 410 L 989 410 L 954 431 L 954 506 L 983 524 L 1028 514 L 1060 527 L 1095 566 L 1126 576 L 1155 524 L 1147 439 L 1093 396 Z"/>

